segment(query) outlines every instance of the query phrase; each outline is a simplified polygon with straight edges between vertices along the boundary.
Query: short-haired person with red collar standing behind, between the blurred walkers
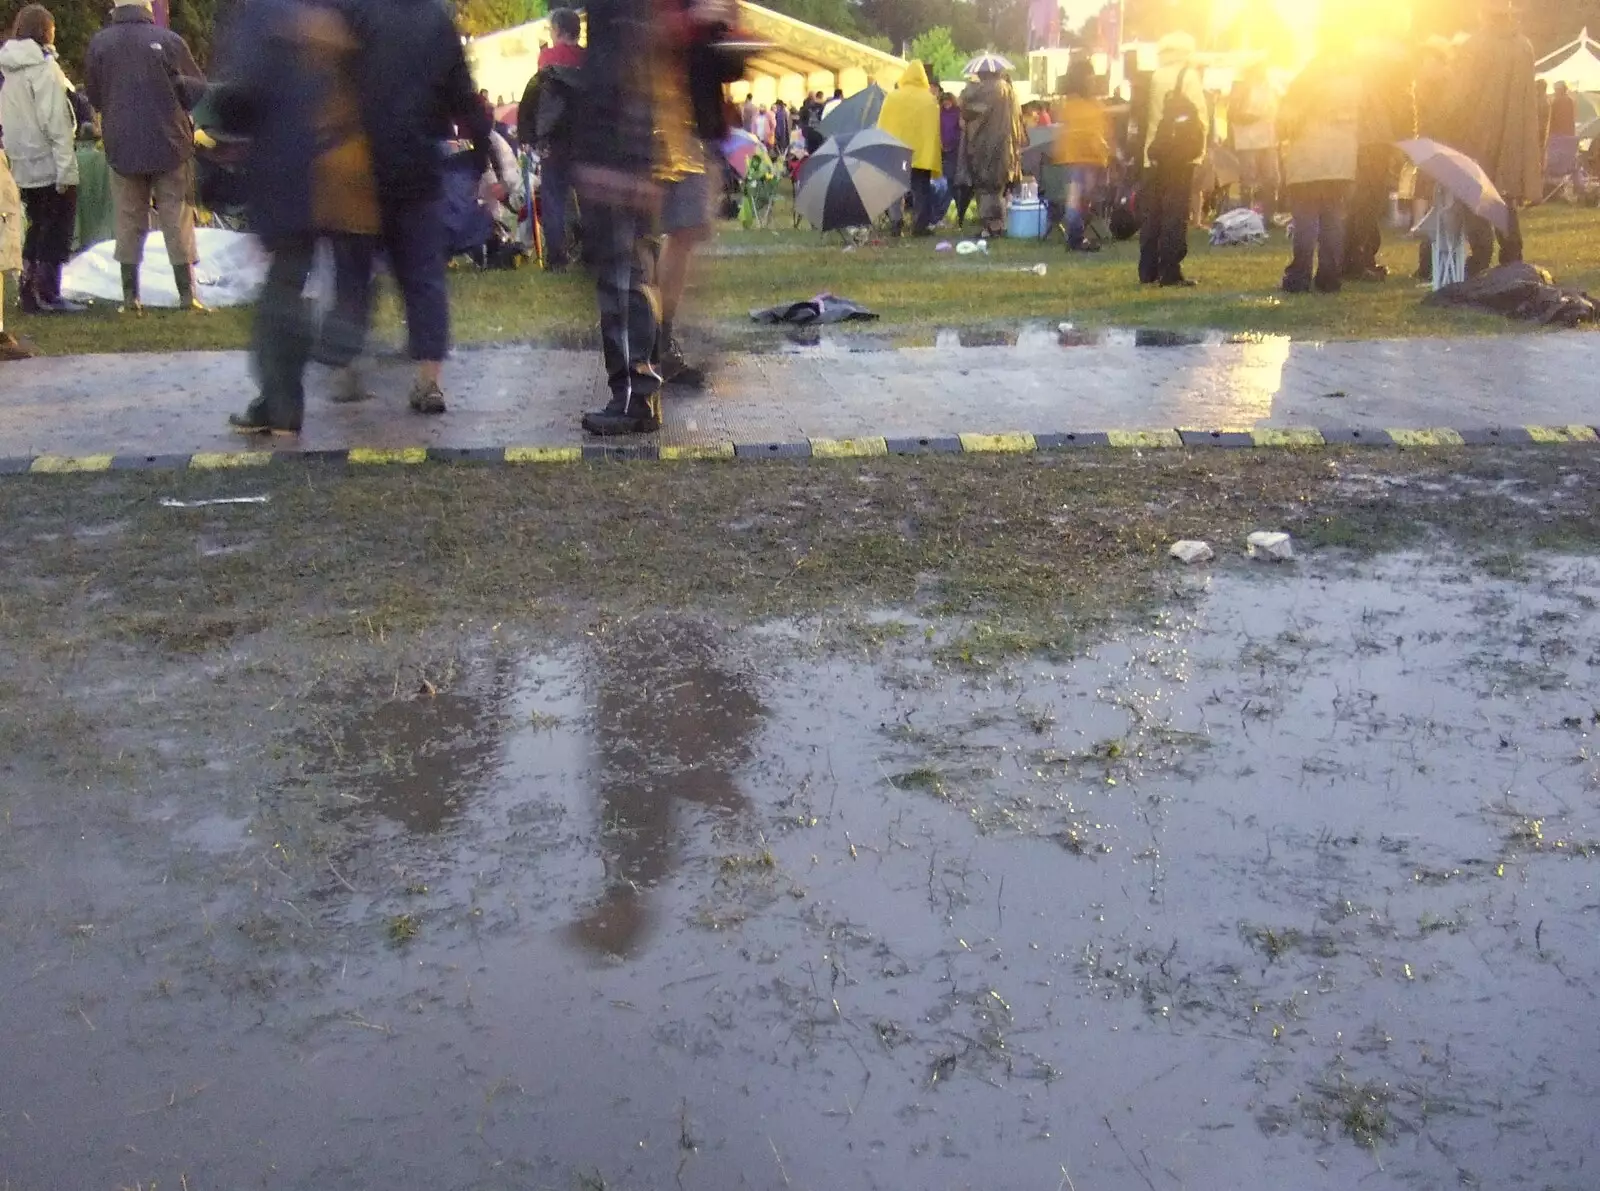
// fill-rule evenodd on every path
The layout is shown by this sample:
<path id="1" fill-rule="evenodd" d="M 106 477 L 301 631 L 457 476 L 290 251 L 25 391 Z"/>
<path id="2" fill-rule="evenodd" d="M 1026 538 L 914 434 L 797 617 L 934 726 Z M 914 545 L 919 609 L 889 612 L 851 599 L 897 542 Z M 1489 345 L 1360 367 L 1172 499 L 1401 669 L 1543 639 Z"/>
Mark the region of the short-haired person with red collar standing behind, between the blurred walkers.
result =
<path id="1" fill-rule="evenodd" d="M 550 13 L 555 45 L 539 51 L 539 74 L 517 107 L 517 139 L 539 154 L 539 218 L 544 229 L 544 267 L 568 267 L 566 218 L 573 197 L 573 157 L 578 107 L 582 101 L 582 21 L 571 8 Z"/>

